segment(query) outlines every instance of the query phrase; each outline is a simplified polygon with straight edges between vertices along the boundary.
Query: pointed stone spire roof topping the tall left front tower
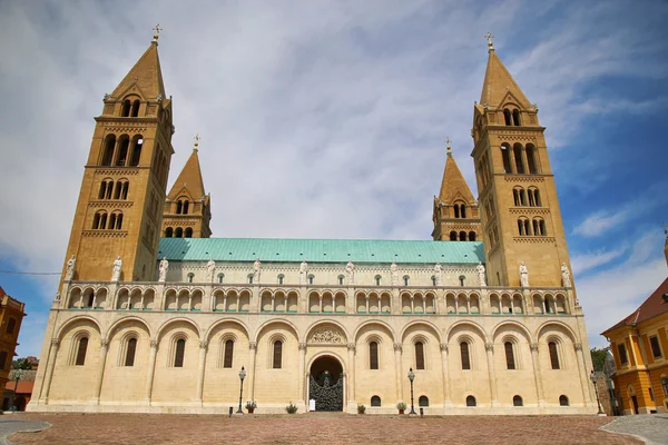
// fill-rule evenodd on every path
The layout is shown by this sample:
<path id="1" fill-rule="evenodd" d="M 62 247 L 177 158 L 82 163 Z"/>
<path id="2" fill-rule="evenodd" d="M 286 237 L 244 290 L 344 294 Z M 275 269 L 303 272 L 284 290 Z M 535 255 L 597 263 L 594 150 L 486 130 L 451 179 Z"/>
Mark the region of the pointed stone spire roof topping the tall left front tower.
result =
<path id="1" fill-rule="evenodd" d="M 158 28 L 158 27 L 156 27 Z M 158 28 L 159 29 L 159 28 Z M 120 98 L 136 85 L 145 98 L 155 98 L 165 95 L 165 85 L 163 83 L 163 71 L 160 70 L 160 59 L 158 58 L 158 32 L 154 36 L 148 49 L 137 60 L 137 63 L 130 69 L 121 82 L 116 87 L 112 97 Z"/>

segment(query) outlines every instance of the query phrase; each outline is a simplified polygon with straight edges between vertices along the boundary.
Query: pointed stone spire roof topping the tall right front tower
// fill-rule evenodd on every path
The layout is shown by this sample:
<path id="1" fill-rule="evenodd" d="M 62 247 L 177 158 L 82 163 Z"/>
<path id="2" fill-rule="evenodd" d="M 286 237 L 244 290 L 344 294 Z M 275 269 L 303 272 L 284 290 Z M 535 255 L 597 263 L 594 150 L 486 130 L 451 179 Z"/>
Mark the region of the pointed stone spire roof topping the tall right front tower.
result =
<path id="1" fill-rule="evenodd" d="M 527 96 L 522 92 L 521 88 L 514 81 L 499 56 L 490 40 L 491 36 L 488 37 L 489 46 L 489 58 L 488 67 L 484 73 L 484 82 L 482 83 L 482 93 L 480 95 L 480 103 L 488 103 L 490 107 L 497 107 L 505 98 L 505 95 L 510 93 L 520 101 L 521 106 L 530 107 L 531 102 L 527 99 Z"/>

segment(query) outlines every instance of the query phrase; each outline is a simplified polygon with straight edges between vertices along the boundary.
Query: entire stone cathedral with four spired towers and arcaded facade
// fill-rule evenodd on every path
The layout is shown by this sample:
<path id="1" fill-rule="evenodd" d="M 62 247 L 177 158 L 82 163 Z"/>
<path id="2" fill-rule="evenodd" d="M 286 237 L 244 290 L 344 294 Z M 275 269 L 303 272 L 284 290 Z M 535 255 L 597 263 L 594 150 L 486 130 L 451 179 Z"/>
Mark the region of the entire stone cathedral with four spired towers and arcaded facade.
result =
<path id="1" fill-rule="evenodd" d="M 546 128 L 491 41 L 479 196 L 448 146 L 432 240 L 212 238 L 173 107 L 156 34 L 95 118 L 28 411 L 597 412 Z"/>

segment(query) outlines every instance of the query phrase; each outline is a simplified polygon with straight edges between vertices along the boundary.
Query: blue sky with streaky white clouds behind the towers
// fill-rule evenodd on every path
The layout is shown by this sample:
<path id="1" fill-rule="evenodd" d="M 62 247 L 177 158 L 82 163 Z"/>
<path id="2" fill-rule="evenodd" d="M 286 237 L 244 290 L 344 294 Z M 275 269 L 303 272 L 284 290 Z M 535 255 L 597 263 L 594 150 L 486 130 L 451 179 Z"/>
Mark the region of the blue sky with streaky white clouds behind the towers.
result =
<path id="1" fill-rule="evenodd" d="M 477 196 L 487 41 L 539 107 L 590 346 L 668 275 L 664 1 L 0 0 L 0 270 L 60 271 L 94 117 L 160 23 L 170 182 L 216 237 L 430 239 L 444 140 Z M 39 355 L 58 277 L 0 273 Z"/>

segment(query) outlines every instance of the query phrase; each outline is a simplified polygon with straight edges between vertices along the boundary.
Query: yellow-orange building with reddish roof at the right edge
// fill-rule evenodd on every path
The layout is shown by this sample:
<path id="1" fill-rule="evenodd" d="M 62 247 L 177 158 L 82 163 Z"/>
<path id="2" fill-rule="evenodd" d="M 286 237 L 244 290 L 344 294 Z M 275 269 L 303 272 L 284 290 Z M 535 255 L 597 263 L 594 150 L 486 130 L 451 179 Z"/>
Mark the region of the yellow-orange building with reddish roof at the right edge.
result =
<path id="1" fill-rule="evenodd" d="M 668 249 L 665 254 L 668 261 Z M 668 412 L 668 278 L 632 314 L 601 335 L 610 342 L 615 356 L 612 380 L 623 413 Z"/>

